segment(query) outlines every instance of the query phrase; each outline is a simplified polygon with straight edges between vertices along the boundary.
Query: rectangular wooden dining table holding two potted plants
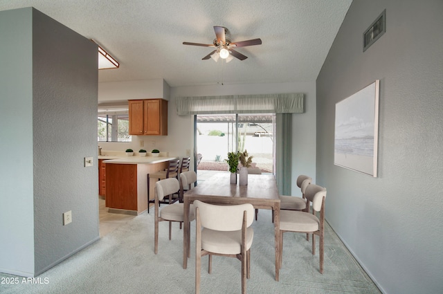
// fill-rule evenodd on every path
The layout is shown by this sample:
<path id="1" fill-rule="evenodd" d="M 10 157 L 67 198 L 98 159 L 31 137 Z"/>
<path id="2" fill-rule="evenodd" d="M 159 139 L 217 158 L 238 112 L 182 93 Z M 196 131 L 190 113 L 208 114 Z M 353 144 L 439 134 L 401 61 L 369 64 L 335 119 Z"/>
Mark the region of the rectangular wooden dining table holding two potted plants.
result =
<path id="1" fill-rule="evenodd" d="M 183 194 L 183 268 L 190 256 L 190 205 L 195 201 L 219 205 L 251 203 L 255 209 L 273 210 L 275 236 L 275 280 L 280 269 L 280 196 L 272 174 L 248 174 L 247 185 L 230 183 L 230 173 L 221 172 Z"/>

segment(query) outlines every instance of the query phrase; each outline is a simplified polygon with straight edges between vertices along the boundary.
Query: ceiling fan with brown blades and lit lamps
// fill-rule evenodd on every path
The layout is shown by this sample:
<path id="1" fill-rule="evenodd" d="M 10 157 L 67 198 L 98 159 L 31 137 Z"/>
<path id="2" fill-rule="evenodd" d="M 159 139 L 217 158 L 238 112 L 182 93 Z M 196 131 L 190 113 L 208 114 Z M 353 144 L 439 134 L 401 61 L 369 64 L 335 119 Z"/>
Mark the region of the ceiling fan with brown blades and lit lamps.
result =
<path id="1" fill-rule="evenodd" d="M 215 39 L 213 44 L 200 44 L 200 43 L 191 43 L 191 42 L 183 42 L 183 45 L 192 45 L 192 46 L 204 46 L 204 47 L 213 47 L 216 48 L 213 52 L 209 53 L 203 60 L 210 59 L 211 57 L 217 62 L 217 59 L 220 57 L 221 59 L 226 59 L 226 62 L 229 62 L 232 57 L 236 57 L 237 59 L 244 60 L 248 58 L 247 56 L 239 53 L 233 48 L 253 46 L 262 44 L 261 39 L 251 39 L 240 42 L 231 42 L 229 37 L 229 30 L 224 26 L 214 26 L 215 30 Z M 229 60 L 228 60 L 229 59 Z"/>

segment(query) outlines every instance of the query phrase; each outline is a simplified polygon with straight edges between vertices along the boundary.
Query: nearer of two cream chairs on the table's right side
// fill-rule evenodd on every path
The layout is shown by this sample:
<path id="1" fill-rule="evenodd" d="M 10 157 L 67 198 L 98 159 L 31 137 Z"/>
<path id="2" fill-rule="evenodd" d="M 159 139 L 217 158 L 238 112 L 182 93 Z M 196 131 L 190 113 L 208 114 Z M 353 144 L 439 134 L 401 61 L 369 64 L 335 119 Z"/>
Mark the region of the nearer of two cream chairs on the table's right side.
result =
<path id="1" fill-rule="evenodd" d="M 307 185 L 305 196 L 307 201 L 312 203 L 312 214 L 296 210 L 280 211 L 280 266 L 283 260 L 283 233 L 305 232 L 313 234 L 312 255 L 316 254 L 316 236 L 320 239 L 318 251 L 320 252 L 320 273 L 323 273 L 326 189 L 315 184 Z M 319 218 L 318 213 L 320 213 Z"/>

